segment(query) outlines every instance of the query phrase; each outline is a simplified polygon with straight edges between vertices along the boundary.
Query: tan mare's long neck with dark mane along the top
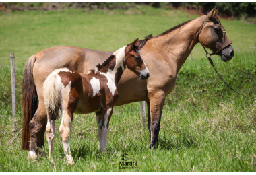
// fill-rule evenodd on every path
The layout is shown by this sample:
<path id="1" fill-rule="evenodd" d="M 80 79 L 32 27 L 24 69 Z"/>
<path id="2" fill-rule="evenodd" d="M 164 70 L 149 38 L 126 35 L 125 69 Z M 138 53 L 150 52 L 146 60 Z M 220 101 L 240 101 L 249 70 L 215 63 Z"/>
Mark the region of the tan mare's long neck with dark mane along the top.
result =
<path id="1" fill-rule="evenodd" d="M 198 34 L 202 24 L 202 17 L 197 17 L 174 27 L 174 30 L 170 29 L 156 36 L 149 40 L 148 44 L 151 43 L 158 50 L 164 52 L 164 55 L 167 56 L 166 62 L 176 65 L 173 66 L 174 72 L 178 73 L 194 46 L 199 42 Z"/>

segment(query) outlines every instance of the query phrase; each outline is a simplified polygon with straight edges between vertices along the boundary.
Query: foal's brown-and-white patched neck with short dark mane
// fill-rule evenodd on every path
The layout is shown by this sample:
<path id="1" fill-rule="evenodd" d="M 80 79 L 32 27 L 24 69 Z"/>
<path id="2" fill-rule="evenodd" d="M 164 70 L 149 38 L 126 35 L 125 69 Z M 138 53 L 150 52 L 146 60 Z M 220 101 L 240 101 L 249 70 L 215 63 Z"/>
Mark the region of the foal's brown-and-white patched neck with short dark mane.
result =
<path id="1" fill-rule="evenodd" d="M 107 60 L 106 63 L 102 64 L 100 73 L 106 75 L 112 81 L 119 83 L 123 71 L 125 69 L 125 47 L 120 48 L 113 53 Z"/>

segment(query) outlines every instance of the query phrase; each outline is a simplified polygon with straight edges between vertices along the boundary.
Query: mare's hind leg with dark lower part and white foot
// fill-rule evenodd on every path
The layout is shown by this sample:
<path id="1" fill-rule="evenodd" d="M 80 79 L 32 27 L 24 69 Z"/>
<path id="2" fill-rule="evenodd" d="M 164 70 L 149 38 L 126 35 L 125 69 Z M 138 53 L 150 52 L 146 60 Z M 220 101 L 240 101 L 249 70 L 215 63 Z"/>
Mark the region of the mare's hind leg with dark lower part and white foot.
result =
<path id="1" fill-rule="evenodd" d="M 45 131 L 45 126 L 47 122 L 47 115 L 46 110 L 44 106 L 43 100 L 39 100 L 38 108 L 36 110 L 36 113 L 34 114 L 34 117 L 30 121 L 29 127 L 30 127 L 30 151 L 28 153 L 28 157 L 30 157 L 32 160 L 36 159 L 38 157 L 38 147 L 41 147 L 43 145 L 38 145 L 38 143 L 41 142 L 42 139 L 44 139 L 44 135 L 41 135 L 41 132 Z M 39 152 L 40 153 L 40 152 Z"/>

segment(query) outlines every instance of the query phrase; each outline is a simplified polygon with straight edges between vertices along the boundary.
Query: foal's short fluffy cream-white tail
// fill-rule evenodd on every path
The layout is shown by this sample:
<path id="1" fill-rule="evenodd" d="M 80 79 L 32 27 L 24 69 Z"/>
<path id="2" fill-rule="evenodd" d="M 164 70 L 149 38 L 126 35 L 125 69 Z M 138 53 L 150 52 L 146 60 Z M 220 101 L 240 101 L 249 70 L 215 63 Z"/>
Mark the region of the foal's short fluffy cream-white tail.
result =
<path id="1" fill-rule="evenodd" d="M 51 120 L 56 120 L 59 116 L 59 95 L 61 92 L 61 78 L 57 76 L 57 71 L 53 71 L 43 85 L 44 106 Z"/>

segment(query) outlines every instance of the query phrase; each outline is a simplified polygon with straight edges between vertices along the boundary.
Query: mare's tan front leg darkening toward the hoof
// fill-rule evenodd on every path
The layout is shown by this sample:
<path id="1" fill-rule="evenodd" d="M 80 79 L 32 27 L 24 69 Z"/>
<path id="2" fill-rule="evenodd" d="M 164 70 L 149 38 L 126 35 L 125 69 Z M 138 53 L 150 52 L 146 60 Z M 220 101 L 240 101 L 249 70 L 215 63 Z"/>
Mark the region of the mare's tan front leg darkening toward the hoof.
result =
<path id="1" fill-rule="evenodd" d="M 148 90 L 148 129 L 150 131 L 150 149 L 158 146 L 158 135 L 160 131 L 160 122 L 162 108 L 164 107 L 165 93 L 159 89 Z"/>

